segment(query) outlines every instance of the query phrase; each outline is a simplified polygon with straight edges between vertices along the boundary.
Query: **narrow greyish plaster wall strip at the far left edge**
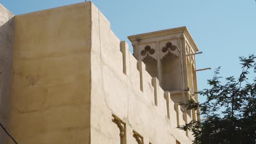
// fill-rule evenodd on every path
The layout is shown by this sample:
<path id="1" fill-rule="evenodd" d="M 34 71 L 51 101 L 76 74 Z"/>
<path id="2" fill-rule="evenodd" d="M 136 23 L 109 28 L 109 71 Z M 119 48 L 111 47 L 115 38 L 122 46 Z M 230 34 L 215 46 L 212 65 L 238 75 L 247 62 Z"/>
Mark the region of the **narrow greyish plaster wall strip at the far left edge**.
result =
<path id="1" fill-rule="evenodd" d="M 9 117 L 13 16 L 0 4 L 0 122 L 5 128 L 8 128 Z M 7 135 L 3 130 L 0 130 L 0 143 L 7 143 Z"/>

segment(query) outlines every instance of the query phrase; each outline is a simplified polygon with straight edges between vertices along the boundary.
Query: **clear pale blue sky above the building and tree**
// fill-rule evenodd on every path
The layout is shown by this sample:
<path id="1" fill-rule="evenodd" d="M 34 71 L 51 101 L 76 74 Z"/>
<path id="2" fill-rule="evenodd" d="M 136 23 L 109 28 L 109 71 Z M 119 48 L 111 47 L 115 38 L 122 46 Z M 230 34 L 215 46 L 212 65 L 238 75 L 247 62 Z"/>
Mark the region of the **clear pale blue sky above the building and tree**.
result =
<path id="1" fill-rule="evenodd" d="M 80 0 L 0 0 L 13 14 L 19 15 L 84 2 Z M 221 74 L 238 75 L 239 56 L 256 54 L 256 3 L 254 0 L 95 0 L 120 40 L 128 35 L 187 26 L 199 50 L 197 72 L 199 89 L 213 69 L 222 66 Z M 130 47 L 131 48 L 131 47 Z M 203 100 L 203 98 L 201 98 Z"/>

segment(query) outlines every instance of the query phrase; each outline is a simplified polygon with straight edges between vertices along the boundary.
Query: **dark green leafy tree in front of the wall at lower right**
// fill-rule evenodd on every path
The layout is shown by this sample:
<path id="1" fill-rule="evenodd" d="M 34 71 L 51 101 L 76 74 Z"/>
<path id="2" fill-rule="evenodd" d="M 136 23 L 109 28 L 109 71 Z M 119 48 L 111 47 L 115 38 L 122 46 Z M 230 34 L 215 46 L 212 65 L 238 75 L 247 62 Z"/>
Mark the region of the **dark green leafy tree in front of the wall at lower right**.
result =
<path id="1" fill-rule="evenodd" d="M 210 88 L 198 92 L 206 97 L 203 103 L 188 101 L 181 104 L 188 110 L 200 109 L 201 122 L 191 121 L 178 127 L 190 130 L 194 143 L 256 143 L 256 63 L 255 56 L 239 57 L 242 65 L 240 76 L 219 76 L 220 67 L 214 71 Z M 230 71 L 232 72 L 232 71 Z M 251 72 L 251 73 L 249 73 Z"/>

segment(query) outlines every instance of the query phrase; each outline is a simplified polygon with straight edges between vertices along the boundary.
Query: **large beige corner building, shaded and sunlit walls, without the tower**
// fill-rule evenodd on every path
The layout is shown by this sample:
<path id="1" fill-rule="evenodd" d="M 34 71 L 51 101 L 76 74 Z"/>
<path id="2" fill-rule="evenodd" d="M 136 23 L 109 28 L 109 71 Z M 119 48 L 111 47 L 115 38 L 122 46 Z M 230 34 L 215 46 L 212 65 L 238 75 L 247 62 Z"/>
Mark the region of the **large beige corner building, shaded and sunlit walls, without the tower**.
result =
<path id="1" fill-rule="evenodd" d="M 14 17 L 9 131 L 18 143 L 191 143 L 178 97 L 129 52 L 91 2 Z M 185 55 L 185 53 L 184 53 Z M 187 119 L 189 121 L 189 118 Z"/>

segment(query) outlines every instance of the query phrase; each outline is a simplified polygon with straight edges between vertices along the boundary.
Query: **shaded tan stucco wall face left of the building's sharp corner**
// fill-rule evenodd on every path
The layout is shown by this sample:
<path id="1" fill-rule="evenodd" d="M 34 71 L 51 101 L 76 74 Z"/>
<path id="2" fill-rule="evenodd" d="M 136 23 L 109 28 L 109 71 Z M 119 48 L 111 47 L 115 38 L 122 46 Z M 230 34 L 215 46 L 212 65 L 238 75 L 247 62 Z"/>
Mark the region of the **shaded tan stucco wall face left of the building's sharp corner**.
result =
<path id="1" fill-rule="evenodd" d="M 89 143 L 90 9 L 15 16 L 9 131 L 18 143 Z"/>

